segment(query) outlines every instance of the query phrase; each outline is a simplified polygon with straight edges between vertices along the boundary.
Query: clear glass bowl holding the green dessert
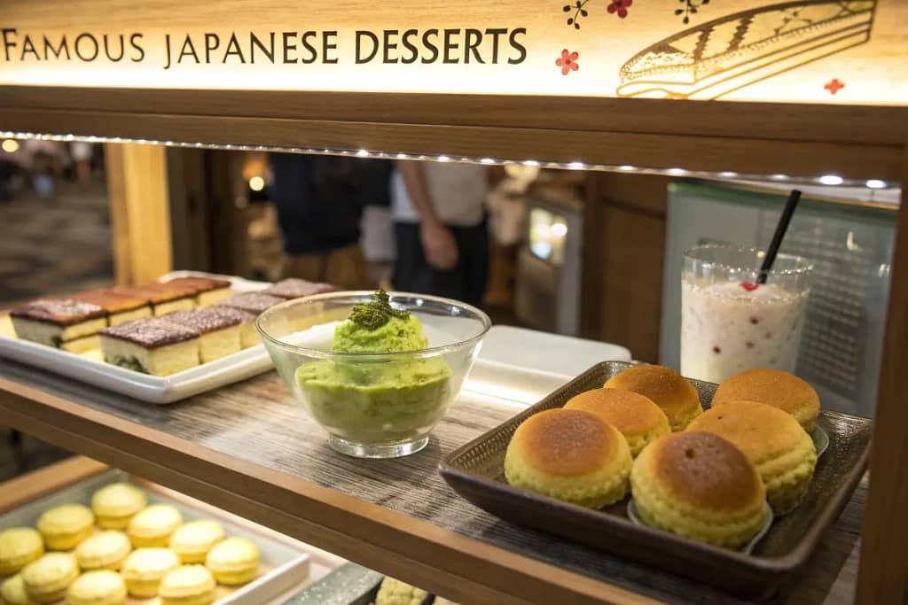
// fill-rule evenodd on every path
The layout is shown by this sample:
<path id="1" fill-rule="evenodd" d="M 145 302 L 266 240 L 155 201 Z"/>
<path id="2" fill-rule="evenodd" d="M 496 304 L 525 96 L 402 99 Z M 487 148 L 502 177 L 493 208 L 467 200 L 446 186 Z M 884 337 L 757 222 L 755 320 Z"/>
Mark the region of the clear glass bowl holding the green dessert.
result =
<path id="1" fill-rule="evenodd" d="M 370 292 L 331 292 L 271 307 L 256 321 L 292 394 L 329 434 L 331 447 L 363 458 L 419 452 L 469 373 L 489 317 L 448 298 L 390 293 L 419 318 L 429 347 L 400 353 L 335 353 L 334 327 Z"/>

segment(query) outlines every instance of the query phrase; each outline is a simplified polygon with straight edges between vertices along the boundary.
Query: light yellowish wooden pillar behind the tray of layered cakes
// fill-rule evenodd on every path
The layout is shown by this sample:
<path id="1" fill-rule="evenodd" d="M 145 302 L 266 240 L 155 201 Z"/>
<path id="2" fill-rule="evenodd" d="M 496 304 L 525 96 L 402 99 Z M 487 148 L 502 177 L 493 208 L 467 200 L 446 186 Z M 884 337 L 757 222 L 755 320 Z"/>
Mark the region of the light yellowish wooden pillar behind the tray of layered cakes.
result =
<path id="1" fill-rule="evenodd" d="M 104 157 L 116 282 L 160 278 L 173 267 L 166 148 L 108 143 Z"/>

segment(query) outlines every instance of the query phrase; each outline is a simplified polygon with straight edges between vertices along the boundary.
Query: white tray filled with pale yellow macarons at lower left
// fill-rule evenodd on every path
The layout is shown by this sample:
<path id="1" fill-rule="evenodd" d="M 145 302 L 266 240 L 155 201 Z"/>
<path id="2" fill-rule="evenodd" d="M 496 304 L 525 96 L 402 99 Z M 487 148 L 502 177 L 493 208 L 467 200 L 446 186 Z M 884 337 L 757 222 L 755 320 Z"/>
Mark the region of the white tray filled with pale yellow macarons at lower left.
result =
<path id="1" fill-rule="evenodd" d="M 0 515 L 4 602 L 280 603 L 311 578 L 301 542 L 109 470 Z"/>

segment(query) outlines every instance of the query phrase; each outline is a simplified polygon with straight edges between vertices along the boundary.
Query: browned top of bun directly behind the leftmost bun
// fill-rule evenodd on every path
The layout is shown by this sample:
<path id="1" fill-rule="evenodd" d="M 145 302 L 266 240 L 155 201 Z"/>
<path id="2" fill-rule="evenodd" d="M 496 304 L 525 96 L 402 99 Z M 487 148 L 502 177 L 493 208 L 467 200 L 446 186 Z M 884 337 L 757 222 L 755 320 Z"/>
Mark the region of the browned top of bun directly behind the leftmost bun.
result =
<path id="1" fill-rule="evenodd" d="M 649 397 L 617 388 L 597 388 L 571 397 L 565 409 L 595 414 L 624 434 L 646 433 L 666 417 Z"/>

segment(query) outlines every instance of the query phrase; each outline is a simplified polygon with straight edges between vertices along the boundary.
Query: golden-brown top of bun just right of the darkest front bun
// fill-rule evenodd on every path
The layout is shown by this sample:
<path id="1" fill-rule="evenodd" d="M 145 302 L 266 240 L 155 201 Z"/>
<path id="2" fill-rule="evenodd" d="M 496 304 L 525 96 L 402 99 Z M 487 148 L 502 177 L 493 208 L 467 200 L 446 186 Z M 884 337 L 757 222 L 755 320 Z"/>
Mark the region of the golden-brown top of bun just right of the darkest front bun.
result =
<path id="1" fill-rule="evenodd" d="M 792 415 L 756 401 L 729 401 L 698 415 L 689 431 L 706 431 L 735 444 L 748 458 L 760 464 L 810 439 Z"/>

